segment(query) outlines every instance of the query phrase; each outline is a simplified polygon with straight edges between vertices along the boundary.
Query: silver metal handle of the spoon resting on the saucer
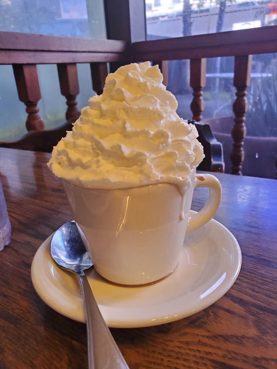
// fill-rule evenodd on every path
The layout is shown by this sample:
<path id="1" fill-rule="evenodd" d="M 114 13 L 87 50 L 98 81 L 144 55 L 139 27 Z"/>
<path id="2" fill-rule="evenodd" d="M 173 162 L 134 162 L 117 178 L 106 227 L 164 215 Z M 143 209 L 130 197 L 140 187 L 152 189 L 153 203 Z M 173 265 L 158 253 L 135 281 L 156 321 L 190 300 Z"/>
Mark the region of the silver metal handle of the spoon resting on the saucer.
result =
<path id="1" fill-rule="evenodd" d="M 82 287 L 88 335 L 89 369 L 129 369 L 100 313 L 85 273 L 76 273 Z"/>

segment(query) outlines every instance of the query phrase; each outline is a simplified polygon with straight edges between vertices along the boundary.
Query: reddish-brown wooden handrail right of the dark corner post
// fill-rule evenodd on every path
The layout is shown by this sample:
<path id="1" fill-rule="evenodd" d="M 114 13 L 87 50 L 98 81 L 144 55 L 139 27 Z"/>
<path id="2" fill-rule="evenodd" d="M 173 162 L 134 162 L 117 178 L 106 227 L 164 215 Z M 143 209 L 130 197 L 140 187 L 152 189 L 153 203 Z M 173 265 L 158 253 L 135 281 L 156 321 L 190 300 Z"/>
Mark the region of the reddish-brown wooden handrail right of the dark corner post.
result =
<path id="1" fill-rule="evenodd" d="M 132 49 L 134 59 L 140 61 L 266 54 L 277 51 L 277 25 L 134 42 Z"/>

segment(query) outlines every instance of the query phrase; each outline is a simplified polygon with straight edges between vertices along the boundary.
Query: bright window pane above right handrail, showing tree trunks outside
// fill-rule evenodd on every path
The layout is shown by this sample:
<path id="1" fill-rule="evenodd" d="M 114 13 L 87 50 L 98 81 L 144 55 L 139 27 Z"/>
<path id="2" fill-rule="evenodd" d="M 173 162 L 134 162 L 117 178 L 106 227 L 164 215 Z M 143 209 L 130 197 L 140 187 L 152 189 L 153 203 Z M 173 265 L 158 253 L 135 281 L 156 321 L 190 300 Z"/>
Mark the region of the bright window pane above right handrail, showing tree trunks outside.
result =
<path id="1" fill-rule="evenodd" d="M 277 24 L 277 1 L 145 0 L 147 39 Z"/>

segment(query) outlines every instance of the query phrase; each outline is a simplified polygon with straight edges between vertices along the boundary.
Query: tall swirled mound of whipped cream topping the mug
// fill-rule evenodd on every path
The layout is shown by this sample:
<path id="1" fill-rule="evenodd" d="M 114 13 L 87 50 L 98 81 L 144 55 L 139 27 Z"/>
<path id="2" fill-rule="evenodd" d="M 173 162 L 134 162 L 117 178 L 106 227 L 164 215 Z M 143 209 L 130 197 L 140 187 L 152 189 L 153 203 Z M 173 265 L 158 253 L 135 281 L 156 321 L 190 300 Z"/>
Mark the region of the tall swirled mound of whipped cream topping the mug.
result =
<path id="1" fill-rule="evenodd" d="M 89 99 L 72 131 L 54 147 L 48 167 L 72 184 L 119 189 L 161 182 L 184 192 L 203 159 L 193 124 L 150 62 L 122 66 Z M 189 183 L 188 183 L 189 181 Z"/>

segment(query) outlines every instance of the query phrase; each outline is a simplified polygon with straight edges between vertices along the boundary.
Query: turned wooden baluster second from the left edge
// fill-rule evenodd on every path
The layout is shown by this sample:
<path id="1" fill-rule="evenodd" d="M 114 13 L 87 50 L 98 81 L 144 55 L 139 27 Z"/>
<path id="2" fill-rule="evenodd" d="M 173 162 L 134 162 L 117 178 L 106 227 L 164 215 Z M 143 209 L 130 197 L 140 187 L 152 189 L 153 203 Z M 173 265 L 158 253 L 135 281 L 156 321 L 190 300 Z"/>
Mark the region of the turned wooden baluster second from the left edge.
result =
<path id="1" fill-rule="evenodd" d="M 76 96 L 79 94 L 79 82 L 76 63 L 57 64 L 59 85 L 61 94 L 66 98 L 68 106 L 65 117 L 66 120 L 77 120 L 81 114 L 77 107 Z"/>

